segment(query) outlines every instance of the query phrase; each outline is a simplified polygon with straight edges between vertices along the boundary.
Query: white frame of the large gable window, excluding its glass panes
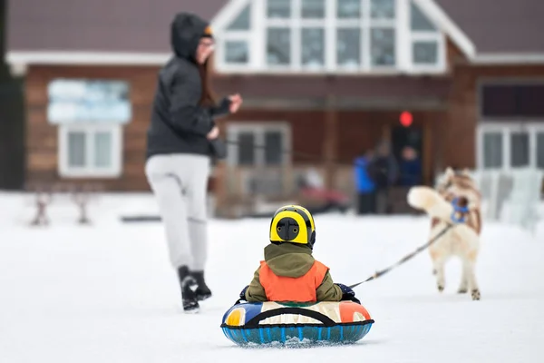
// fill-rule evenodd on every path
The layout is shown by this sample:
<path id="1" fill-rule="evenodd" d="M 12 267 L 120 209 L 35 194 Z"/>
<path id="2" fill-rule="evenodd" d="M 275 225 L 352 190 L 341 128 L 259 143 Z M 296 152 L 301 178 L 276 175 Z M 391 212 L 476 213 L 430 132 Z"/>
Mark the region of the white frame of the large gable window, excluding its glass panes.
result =
<path id="1" fill-rule="evenodd" d="M 292 17 L 290 19 L 267 19 L 267 0 L 234 0 L 228 5 L 225 14 L 219 15 L 218 23 L 224 28 L 217 29 L 218 54 L 216 68 L 224 74 L 443 74 L 447 71 L 446 36 L 432 16 L 414 1 L 421 11 L 437 29 L 436 31 L 413 31 L 411 28 L 410 3 L 412 0 L 395 0 L 394 20 L 372 20 L 370 18 L 370 0 L 362 1 L 363 19 L 338 19 L 336 17 L 336 0 L 325 0 L 325 19 L 300 19 L 302 0 L 291 0 Z M 251 5 L 248 31 L 228 31 L 230 22 L 247 6 Z M 291 64 L 268 65 L 266 62 L 267 26 L 288 26 L 299 30 L 301 27 L 317 26 L 325 29 L 325 64 L 317 69 L 306 68 L 301 63 L 300 31 L 291 37 Z M 346 69 L 336 65 L 336 32 L 338 27 L 356 25 L 362 28 L 361 64 L 356 69 Z M 371 66 L 370 30 L 376 26 L 391 27 L 395 33 L 395 65 Z M 248 42 L 248 64 L 228 64 L 225 61 L 226 42 L 228 40 L 244 40 Z M 413 42 L 433 41 L 438 45 L 438 59 L 435 64 L 413 63 Z M 368 50 L 365 52 L 365 50 Z"/>

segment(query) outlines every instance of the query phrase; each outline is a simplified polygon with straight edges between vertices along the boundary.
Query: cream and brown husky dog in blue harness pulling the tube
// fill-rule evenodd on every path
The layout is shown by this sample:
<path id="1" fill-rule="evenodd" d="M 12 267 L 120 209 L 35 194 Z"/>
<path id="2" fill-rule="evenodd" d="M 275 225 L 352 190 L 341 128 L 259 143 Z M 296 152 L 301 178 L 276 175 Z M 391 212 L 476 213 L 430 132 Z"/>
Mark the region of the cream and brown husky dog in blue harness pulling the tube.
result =
<path id="1" fill-rule="evenodd" d="M 413 187 L 408 193 L 408 203 L 432 218 L 431 238 L 448 224 L 456 224 L 429 248 L 438 290 L 442 292 L 445 286 L 445 262 L 457 256 L 462 261 L 458 292 L 466 293 L 470 289 L 472 299 L 480 299 L 474 270 L 480 247 L 481 194 L 469 172 L 453 172 L 452 168 L 448 168 L 436 190 L 424 186 Z"/>

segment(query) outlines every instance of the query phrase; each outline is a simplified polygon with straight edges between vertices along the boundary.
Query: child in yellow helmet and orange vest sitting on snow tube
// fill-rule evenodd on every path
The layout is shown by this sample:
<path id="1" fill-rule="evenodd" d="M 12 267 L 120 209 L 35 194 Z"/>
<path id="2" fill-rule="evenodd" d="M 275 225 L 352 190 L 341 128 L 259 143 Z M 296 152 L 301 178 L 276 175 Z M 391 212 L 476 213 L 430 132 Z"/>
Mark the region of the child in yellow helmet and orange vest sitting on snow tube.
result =
<path id="1" fill-rule="evenodd" d="M 351 300 L 353 289 L 335 283 L 329 268 L 312 256 L 316 243 L 314 217 L 305 208 L 279 208 L 270 223 L 270 244 L 251 283 L 240 292 L 248 302 L 318 302 Z"/>

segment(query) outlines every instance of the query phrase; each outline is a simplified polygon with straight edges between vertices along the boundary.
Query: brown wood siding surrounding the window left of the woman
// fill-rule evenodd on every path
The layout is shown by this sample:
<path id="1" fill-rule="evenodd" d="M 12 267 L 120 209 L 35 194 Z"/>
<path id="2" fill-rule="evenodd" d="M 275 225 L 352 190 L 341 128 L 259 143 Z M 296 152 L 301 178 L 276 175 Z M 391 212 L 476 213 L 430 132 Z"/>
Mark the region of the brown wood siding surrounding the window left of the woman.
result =
<path id="1" fill-rule="evenodd" d="M 26 182 L 100 183 L 109 191 L 147 191 L 145 142 L 157 67 L 33 66 L 26 75 Z M 123 127 L 122 174 L 117 179 L 61 178 L 57 126 L 48 123 L 47 85 L 55 78 L 121 79 L 130 83 L 132 119 Z"/>

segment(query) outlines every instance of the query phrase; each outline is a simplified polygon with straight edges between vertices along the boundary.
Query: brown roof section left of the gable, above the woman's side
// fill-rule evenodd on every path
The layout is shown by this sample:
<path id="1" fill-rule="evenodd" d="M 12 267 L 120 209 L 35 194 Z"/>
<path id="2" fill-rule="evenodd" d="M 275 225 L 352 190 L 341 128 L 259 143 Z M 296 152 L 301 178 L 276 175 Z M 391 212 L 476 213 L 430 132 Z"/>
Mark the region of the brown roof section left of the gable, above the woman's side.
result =
<path id="1" fill-rule="evenodd" d="M 211 20 L 228 0 L 16 0 L 8 2 L 8 52 L 170 54 L 170 22 Z"/>

